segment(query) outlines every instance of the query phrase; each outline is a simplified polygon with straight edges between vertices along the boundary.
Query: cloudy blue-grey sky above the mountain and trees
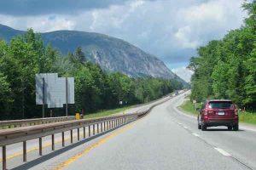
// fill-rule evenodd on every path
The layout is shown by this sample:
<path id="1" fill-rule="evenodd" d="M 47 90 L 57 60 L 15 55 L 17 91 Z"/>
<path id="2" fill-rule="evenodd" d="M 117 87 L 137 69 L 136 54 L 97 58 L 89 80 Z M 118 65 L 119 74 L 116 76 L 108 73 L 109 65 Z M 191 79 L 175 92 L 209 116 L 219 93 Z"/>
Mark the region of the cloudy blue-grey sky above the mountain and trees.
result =
<path id="1" fill-rule="evenodd" d="M 243 0 L 1 0 L 0 23 L 38 32 L 76 30 L 119 37 L 154 54 L 189 82 L 196 48 L 239 28 Z"/>

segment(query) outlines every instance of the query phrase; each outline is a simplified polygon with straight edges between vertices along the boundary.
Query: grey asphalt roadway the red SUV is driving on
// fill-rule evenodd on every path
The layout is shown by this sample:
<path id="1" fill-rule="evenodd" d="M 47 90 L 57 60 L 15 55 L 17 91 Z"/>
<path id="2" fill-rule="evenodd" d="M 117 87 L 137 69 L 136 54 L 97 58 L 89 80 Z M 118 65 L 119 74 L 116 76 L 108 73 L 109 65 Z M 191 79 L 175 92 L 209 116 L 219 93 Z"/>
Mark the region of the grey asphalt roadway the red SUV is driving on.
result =
<path id="1" fill-rule="evenodd" d="M 65 148 L 56 144 L 55 151 L 45 147 L 44 156 L 31 151 L 26 163 L 22 163 L 21 156 L 15 156 L 9 159 L 8 167 L 19 170 L 256 169 L 256 129 L 242 125 L 237 132 L 228 131 L 227 127 L 198 130 L 195 116 L 177 110 L 187 94 L 169 99 L 148 116 L 109 133 L 67 144 Z M 21 150 L 20 146 L 12 144 L 11 154 Z"/>

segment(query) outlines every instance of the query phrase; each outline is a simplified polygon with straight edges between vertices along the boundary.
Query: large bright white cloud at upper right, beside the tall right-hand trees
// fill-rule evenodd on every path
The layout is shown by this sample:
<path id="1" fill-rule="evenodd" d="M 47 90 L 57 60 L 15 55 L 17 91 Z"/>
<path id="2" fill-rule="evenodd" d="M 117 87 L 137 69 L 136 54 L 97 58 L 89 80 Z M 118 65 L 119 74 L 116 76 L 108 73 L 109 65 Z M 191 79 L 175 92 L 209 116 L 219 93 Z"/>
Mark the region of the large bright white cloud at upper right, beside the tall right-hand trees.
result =
<path id="1" fill-rule="evenodd" d="M 241 8 L 242 3 L 242 0 L 210 0 L 179 9 L 177 13 L 179 19 L 183 20 L 183 27 L 190 28 L 190 32 L 185 34 L 187 42 L 193 40 L 199 42 L 197 45 L 204 45 L 240 27 L 246 16 Z M 187 42 L 183 41 L 184 44 Z"/>

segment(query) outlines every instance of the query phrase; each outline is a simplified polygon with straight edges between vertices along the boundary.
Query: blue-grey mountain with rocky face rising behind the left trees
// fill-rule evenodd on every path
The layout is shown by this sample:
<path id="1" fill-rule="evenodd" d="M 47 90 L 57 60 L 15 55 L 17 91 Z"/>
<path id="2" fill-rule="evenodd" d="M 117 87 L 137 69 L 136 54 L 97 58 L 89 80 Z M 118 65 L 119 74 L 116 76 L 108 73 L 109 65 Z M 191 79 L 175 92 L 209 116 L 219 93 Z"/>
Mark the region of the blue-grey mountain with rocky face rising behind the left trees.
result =
<path id="1" fill-rule="evenodd" d="M 0 25 L 0 38 L 7 42 L 24 32 Z M 44 44 L 50 43 L 62 54 L 73 53 L 81 46 L 87 59 L 101 65 L 105 71 L 120 71 L 131 77 L 176 78 L 185 83 L 154 55 L 115 37 L 85 31 L 52 31 L 41 33 L 41 37 Z"/>

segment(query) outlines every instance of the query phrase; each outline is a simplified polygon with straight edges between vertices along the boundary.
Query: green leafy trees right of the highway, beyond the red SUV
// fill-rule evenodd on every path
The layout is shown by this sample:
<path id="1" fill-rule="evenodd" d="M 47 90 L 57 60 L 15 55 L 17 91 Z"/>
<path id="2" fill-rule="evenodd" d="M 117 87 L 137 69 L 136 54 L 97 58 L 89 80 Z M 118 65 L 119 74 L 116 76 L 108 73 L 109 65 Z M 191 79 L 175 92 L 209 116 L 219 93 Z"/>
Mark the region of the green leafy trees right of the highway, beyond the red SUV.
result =
<path id="1" fill-rule="evenodd" d="M 244 3 L 248 18 L 240 29 L 198 48 L 188 68 L 191 99 L 232 99 L 247 110 L 256 109 L 256 1 Z"/>

